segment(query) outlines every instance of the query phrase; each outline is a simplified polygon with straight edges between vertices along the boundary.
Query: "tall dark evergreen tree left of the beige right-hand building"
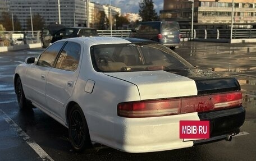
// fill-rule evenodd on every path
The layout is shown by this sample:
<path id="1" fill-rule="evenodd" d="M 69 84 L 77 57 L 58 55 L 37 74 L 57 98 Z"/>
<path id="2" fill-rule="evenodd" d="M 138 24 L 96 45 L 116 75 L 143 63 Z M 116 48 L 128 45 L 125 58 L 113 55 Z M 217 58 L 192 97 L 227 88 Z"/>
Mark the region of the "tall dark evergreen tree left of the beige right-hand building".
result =
<path id="1" fill-rule="evenodd" d="M 154 4 L 152 0 L 143 0 L 139 2 L 139 15 L 142 21 L 156 21 L 158 20 L 158 15 L 156 10 L 154 10 Z"/>

